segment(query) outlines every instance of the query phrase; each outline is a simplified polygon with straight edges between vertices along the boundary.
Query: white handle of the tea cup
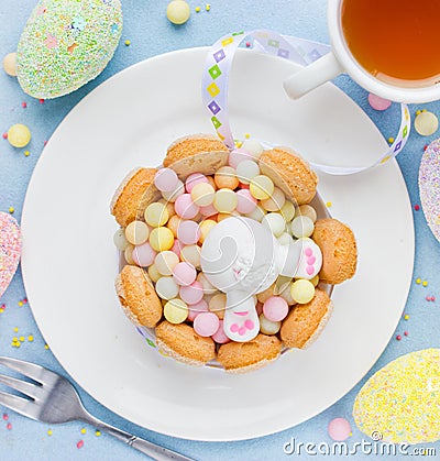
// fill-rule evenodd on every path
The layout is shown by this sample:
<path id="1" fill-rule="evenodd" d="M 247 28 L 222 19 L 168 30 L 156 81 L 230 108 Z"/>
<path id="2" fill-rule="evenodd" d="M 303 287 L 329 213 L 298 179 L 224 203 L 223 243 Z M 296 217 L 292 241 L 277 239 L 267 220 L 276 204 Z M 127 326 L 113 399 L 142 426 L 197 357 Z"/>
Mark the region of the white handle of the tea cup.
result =
<path id="1" fill-rule="evenodd" d="M 284 83 L 284 89 L 292 99 L 299 99 L 312 89 L 342 74 L 344 69 L 333 53 L 327 53 L 315 63 L 298 70 Z"/>

